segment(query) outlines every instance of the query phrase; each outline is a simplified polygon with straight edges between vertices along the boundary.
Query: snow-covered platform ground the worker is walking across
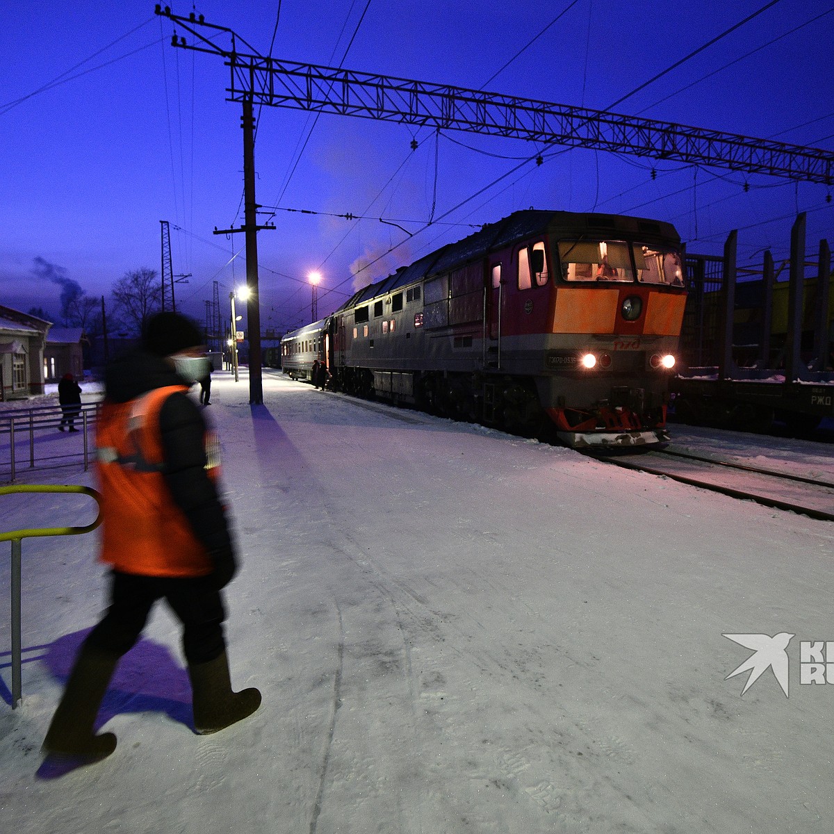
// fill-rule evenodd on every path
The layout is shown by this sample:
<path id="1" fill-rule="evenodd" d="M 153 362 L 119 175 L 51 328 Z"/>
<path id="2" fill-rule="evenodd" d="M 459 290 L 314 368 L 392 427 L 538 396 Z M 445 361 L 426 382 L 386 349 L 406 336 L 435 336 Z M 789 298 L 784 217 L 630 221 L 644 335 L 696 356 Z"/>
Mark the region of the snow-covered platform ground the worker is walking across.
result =
<path id="1" fill-rule="evenodd" d="M 0 631 L 4 830 L 830 830 L 834 686 L 800 683 L 800 643 L 834 641 L 834 525 L 269 372 L 263 407 L 245 375 L 212 393 L 244 560 L 229 656 L 264 704 L 193 735 L 160 606 L 103 706 L 113 756 L 43 762 L 103 569 L 95 535 L 24 540 L 14 711 Z M 829 446 L 673 429 L 834 478 Z M 2 500 L 3 530 L 94 512 Z M 726 678 L 752 652 L 723 635 L 781 631 L 790 697 L 770 669 L 742 696 L 746 674 Z"/>

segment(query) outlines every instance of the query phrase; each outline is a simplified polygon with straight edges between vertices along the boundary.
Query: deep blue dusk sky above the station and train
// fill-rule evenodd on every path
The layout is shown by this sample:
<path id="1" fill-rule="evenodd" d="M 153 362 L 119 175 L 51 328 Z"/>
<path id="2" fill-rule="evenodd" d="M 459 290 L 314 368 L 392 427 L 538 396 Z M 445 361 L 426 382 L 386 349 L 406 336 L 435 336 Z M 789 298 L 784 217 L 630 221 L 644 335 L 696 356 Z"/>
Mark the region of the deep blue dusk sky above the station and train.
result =
<path id="1" fill-rule="evenodd" d="M 283 0 L 275 30 L 277 0 L 171 4 L 174 13 L 195 10 L 234 29 L 264 54 L 275 31 L 272 54 L 280 58 L 597 109 L 765 5 Z M 57 316 L 68 282 L 108 295 L 128 270 L 159 269 L 160 220 L 171 224 L 174 273 L 192 274 L 177 287 L 178 309 L 202 320 L 218 281 L 225 314 L 229 289 L 244 281 L 243 251 L 233 259 L 243 235 L 212 234 L 243 223 L 241 108 L 225 101 L 222 60 L 172 48 L 171 22 L 153 6 L 6 4 L 0 303 Z M 834 148 L 831 43 L 830 0 L 779 0 L 615 110 Z M 797 210 L 808 213 L 810 254 L 821 238 L 834 243 L 832 189 L 822 185 L 582 148 L 554 153 L 559 148 L 455 131 L 435 143 L 428 128 L 333 115 L 319 118 L 296 164 L 314 118 L 279 108 L 259 117 L 259 203 L 320 213 L 279 210 L 276 230 L 259 234 L 264 329 L 309 320 L 305 281 L 313 269 L 324 276 L 324 314 L 342 304 L 354 281 L 379 279 L 473 226 L 530 206 L 668 220 L 691 252 L 706 254 L 720 254 L 726 235 L 739 229 L 742 265 L 761 264 L 767 247 L 777 260 L 786 257 Z M 468 199 L 536 151 L 543 165 L 528 164 Z M 382 217 L 417 233 L 433 202 L 442 222 L 413 238 L 379 223 Z M 346 213 L 377 219 L 329 216 Z M 352 277 L 362 259 L 405 239 Z"/>

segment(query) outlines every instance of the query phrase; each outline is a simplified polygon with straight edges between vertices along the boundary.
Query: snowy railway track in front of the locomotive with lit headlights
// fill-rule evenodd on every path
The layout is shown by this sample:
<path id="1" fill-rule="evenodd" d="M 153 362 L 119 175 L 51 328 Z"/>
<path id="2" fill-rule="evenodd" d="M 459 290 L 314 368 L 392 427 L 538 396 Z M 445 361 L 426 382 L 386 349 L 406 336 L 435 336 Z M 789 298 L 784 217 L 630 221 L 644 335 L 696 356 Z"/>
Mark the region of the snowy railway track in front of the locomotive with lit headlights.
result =
<path id="1" fill-rule="evenodd" d="M 639 455 L 596 456 L 625 469 L 662 475 L 682 484 L 756 501 L 779 510 L 834 521 L 834 483 L 762 469 L 730 460 L 716 460 L 676 450 L 651 450 Z"/>

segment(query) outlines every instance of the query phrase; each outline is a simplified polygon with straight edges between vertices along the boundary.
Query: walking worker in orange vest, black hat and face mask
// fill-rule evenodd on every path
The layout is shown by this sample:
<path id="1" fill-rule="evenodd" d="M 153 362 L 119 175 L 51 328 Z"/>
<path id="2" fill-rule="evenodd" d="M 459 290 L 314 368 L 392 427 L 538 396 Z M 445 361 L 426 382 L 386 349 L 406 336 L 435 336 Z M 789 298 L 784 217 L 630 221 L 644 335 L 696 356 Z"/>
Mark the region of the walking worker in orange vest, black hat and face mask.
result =
<path id="1" fill-rule="evenodd" d="M 43 750 L 98 761 L 116 748 L 93 722 L 119 659 L 164 599 L 183 626 L 194 729 L 222 730 L 258 709 L 233 692 L 220 590 L 237 565 L 216 486 L 217 440 L 188 388 L 206 373 L 203 337 L 176 313 L 148 321 L 142 349 L 110 365 L 98 418 L 97 472 L 110 605 L 83 642 Z"/>

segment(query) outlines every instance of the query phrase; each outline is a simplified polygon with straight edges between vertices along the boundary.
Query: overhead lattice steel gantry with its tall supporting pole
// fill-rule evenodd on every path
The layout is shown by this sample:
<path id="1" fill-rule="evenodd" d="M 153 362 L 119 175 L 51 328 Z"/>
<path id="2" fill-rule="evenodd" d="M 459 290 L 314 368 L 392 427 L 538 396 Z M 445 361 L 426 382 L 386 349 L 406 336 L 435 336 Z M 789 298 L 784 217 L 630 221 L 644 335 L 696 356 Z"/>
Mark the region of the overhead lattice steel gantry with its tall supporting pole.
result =
<path id="1" fill-rule="evenodd" d="M 461 130 L 490 136 L 527 139 L 547 145 L 564 145 L 629 153 L 693 165 L 763 173 L 802 182 L 831 185 L 834 152 L 804 148 L 770 139 L 691 128 L 671 122 L 575 108 L 565 104 L 485 93 L 408 78 L 392 78 L 349 69 L 266 58 L 231 29 L 207 23 L 203 15 L 188 18 L 157 5 L 156 13 L 181 26 L 195 38 L 188 43 L 173 34 L 172 46 L 224 58 L 229 67 L 228 100 L 244 106 L 244 213 L 245 223 L 229 232 L 246 233 L 247 304 L 249 320 L 249 402 L 263 403 L 260 369 L 260 312 L 256 236 L 258 204 L 254 196 L 255 103 L 269 107 L 334 113 L 416 124 L 442 130 Z M 230 48 L 222 48 L 203 34 L 226 33 Z M 238 49 L 241 43 L 249 52 Z M 215 234 L 221 234 L 215 232 Z"/>

